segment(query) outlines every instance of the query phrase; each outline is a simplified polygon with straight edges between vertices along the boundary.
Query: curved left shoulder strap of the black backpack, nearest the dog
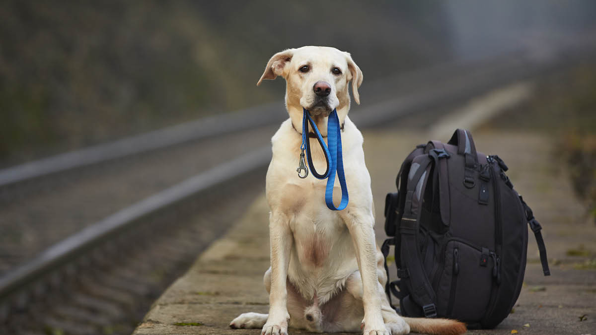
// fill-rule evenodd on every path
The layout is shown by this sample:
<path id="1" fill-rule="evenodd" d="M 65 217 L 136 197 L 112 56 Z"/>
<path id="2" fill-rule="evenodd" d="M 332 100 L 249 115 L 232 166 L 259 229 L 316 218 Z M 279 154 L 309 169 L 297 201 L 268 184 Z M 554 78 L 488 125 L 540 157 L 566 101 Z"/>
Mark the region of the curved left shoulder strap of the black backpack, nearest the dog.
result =
<path id="1" fill-rule="evenodd" d="M 420 252 L 418 251 L 418 228 L 420 225 L 421 201 L 424 188 L 429 178 L 429 170 L 433 159 L 428 155 L 418 156 L 412 162 L 408 173 L 408 184 L 405 206 L 399 225 L 401 235 L 402 273 L 408 275 L 409 291 L 412 299 L 422 306 L 424 317 L 436 317 L 435 294 L 429 278 L 424 272 Z"/>

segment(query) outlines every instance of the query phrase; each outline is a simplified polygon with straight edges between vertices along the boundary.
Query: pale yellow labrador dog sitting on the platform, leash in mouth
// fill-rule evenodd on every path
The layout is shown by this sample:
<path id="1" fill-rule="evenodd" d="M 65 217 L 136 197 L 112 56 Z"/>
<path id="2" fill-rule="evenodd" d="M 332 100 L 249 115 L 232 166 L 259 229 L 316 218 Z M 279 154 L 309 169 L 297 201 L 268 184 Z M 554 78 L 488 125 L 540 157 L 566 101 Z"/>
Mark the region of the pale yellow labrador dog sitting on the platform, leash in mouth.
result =
<path id="1" fill-rule="evenodd" d="M 273 55 L 263 79 L 282 76 L 290 118 L 272 138 L 273 157 L 266 178 L 271 209 L 271 268 L 265 272 L 269 314 L 245 313 L 232 328 L 262 328 L 263 335 L 287 334 L 288 326 L 316 332 L 360 331 L 365 335 L 461 334 L 465 325 L 446 319 L 402 318 L 384 292 L 387 276 L 375 244 L 373 194 L 364 163 L 362 134 L 347 117 L 348 86 L 356 103 L 362 72 L 347 52 L 303 46 Z M 337 108 L 350 200 L 332 211 L 324 201 L 325 180 L 299 178 L 296 166 L 302 144 L 303 109 L 310 111 L 323 137 L 327 119 Z M 325 156 L 311 141 L 315 168 L 324 171 Z M 335 203 L 340 188 L 336 181 Z"/>

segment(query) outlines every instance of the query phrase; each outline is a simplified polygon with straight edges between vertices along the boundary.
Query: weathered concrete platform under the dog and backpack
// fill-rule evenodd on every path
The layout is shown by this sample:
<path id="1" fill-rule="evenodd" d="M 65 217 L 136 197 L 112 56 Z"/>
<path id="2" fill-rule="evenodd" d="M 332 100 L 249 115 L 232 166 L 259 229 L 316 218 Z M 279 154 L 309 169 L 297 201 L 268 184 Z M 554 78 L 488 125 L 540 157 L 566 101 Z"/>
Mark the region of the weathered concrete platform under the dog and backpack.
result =
<path id="1" fill-rule="evenodd" d="M 548 134 L 473 135 L 480 151 L 498 153 L 505 160 L 516 190 L 544 227 L 552 275 L 542 276 L 530 234 L 526 278 L 513 314 L 494 330 L 469 333 L 596 335 L 596 227 L 576 200 L 562 162 L 553 160 L 552 147 L 545 145 L 550 142 Z M 373 176 L 377 240 L 382 241 L 384 196 L 395 191 L 402 159 L 429 138 L 395 130 L 367 131 L 364 138 Z M 228 324 L 243 312 L 268 311 L 262 283 L 269 266 L 268 212 L 264 195 L 260 196 L 246 216 L 154 303 L 134 334 L 260 334 L 260 330 L 231 330 Z M 578 252 L 583 256 L 568 256 L 572 250 L 583 250 Z M 290 333 L 309 334 L 291 329 Z"/>

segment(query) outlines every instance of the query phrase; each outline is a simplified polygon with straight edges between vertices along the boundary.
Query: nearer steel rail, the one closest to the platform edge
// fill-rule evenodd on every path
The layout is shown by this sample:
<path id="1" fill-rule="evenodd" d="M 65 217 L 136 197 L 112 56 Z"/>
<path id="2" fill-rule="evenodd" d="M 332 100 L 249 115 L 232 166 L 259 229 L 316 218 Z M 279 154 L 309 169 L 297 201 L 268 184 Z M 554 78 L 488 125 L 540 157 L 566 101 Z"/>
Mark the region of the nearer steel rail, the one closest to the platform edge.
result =
<path id="1" fill-rule="evenodd" d="M 512 66 L 520 67 L 520 64 L 515 63 L 513 65 L 508 65 L 510 68 Z M 480 78 L 480 81 L 486 81 L 486 79 L 483 79 L 486 78 L 485 72 L 480 72 L 479 75 L 477 75 L 477 77 Z M 484 86 L 471 85 L 478 80 L 474 78 L 472 79 L 473 80 L 461 80 L 460 83 L 454 83 L 448 87 L 433 88 L 423 93 L 414 93 L 405 97 L 401 96 L 382 101 L 367 108 L 359 108 L 358 112 L 352 116 L 352 119 L 355 119 L 355 123 L 358 126 L 367 128 L 381 124 L 386 120 L 395 117 L 404 116 L 421 108 L 432 107 L 434 104 L 439 103 L 440 101 L 445 101 L 448 98 L 454 99 L 464 97 L 465 95 L 473 95 L 478 89 L 487 88 L 485 87 L 487 86 L 486 83 Z M 491 80 L 491 86 L 498 85 L 502 81 L 504 80 Z M 262 118 L 259 119 L 262 120 Z M 263 120 L 260 122 L 263 122 Z M 194 125 L 184 126 L 187 127 L 186 129 L 194 128 Z M 166 133 L 170 134 L 170 132 L 173 132 L 173 129 L 167 129 Z M 216 131 L 212 131 L 212 134 L 215 134 L 215 132 Z M 142 135 L 145 139 L 149 136 L 150 134 Z M 184 137 L 184 135 L 182 137 Z M 132 140 L 127 141 L 129 141 L 129 143 L 133 142 Z M 136 141 L 135 138 L 134 141 Z M 173 141 L 174 140 L 172 139 L 170 144 Z M 165 142 L 163 141 L 160 143 L 165 145 Z M 126 147 L 126 145 L 124 146 Z M 102 149 L 102 151 L 103 150 L 104 149 Z M 128 150 L 131 149 L 129 148 Z M 120 151 L 120 153 L 123 154 L 123 151 Z M 251 151 L 244 154 L 244 156 L 216 166 L 215 168 L 193 176 L 177 185 L 132 204 L 101 221 L 95 222 L 82 231 L 67 237 L 65 240 L 46 249 L 45 252 L 42 252 L 36 258 L 18 266 L 13 271 L 8 272 L 4 277 L 0 277 L 0 302 L 2 302 L 2 300 L 7 300 L 7 297 L 14 294 L 15 291 L 20 291 L 34 283 L 36 280 L 39 280 L 44 274 L 69 263 L 80 256 L 81 253 L 85 252 L 85 250 L 101 244 L 102 241 L 107 240 L 120 231 L 120 229 L 132 224 L 132 222 L 176 203 L 176 201 L 207 190 L 221 182 L 225 182 L 228 179 L 263 167 L 268 163 L 269 157 L 271 157 L 271 148 L 269 146 Z"/>

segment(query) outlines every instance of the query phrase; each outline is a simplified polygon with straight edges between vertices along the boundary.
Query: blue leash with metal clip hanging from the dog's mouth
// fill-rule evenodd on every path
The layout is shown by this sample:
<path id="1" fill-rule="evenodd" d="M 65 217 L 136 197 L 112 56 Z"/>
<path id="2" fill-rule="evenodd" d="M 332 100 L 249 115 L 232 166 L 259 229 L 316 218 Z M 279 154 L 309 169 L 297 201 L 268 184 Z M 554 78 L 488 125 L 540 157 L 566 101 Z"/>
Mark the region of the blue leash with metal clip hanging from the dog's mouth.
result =
<path id="1" fill-rule="evenodd" d="M 325 203 L 331 210 L 342 210 L 346 208 L 348 202 L 346 176 L 343 172 L 343 156 L 342 156 L 342 131 L 340 129 L 339 117 L 337 117 L 337 110 L 333 110 L 329 114 L 327 120 L 327 144 L 323 141 L 323 137 L 319 129 L 316 127 L 316 123 L 312 120 L 308 110 L 304 109 L 304 115 L 302 117 L 302 145 L 300 145 L 300 163 L 296 172 L 300 178 L 306 178 L 308 176 L 308 168 L 305 164 L 305 154 L 307 153 L 308 165 L 311 168 L 312 175 L 318 179 L 327 178 L 327 187 L 325 188 Z M 316 172 L 315 167 L 312 165 L 311 159 L 311 145 L 308 141 L 308 124 L 311 124 L 313 131 L 315 131 L 316 138 L 321 145 L 323 151 L 325 151 L 325 159 L 327 160 L 327 170 L 324 174 Z M 303 170 L 305 173 L 301 174 Z M 335 184 L 335 176 L 339 178 L 339 184 L 342 187 L 342 201 L 339 207 L 335 207 L 333 204 L 333 185 Z"/>

